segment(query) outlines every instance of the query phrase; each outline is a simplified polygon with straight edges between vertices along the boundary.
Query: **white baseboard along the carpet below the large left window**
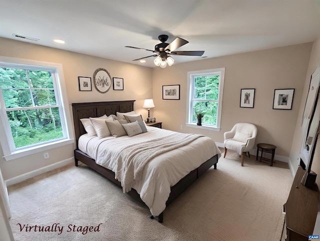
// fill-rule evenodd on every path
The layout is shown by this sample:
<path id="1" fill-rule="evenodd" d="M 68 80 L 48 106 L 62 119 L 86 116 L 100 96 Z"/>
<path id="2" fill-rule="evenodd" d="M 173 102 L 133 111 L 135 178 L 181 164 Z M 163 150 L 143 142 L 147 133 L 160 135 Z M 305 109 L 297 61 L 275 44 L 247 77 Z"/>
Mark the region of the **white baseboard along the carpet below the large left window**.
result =
<path id="1" fill-rule="evenodd" d="M 72 162 L 74 162 L 74 158 L 73 157 L 65 159 L 65 160 L 62 160 L 62 161 L 59 161 L 59 162 L 55 162 L 55 163 L 53 163 L 51 165 L 41 167 L 39 169 L 24 173 L 22 175 L 19 175 L 19 176 L 12 177 L 10 179 L 4 180 L 4 183 L 6 184 L 6 186 L 10 186 L 10 185 L 19 183 L 21 181 L 24 181 L 24 180 L 26 180 L 28 178 L 40 175 L 40 174 L 42 174 L 44 172 L 51 171 L 51 170 L 54 170 L 56 168 L 65 166 L 65 165 L 67 165 L 69 163 L 72 163 Z"/>

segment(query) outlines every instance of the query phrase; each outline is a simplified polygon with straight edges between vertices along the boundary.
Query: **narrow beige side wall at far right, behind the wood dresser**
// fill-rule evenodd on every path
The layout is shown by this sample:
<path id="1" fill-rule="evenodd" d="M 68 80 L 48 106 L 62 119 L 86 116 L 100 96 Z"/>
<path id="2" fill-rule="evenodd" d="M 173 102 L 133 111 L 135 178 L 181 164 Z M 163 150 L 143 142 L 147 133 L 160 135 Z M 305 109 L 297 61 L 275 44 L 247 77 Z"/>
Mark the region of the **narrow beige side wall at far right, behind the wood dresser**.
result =
<path id="1" fill-rule="evenodd" d="M 304 81 L 303 94 L 302 94 L 297 122 L 295 125 L 295 132 L 294 132 L 294 137 L 292 141 L 291 151 L 289 155 L 290 168 L 292 173 L 296 172 L 298 168 L 299 160 L 300 160 L 299 151 L 302 143 L 301 120 L 302 120 L 302 115 L 304 110 L 304 104 L 305 104 L 308 89 L 309 89 L 310 77 L 318 65 L 320 65 L 320 38 L 318 38 L 316 41 L 313 42 L 311 55 L 308 62 L 307 72 L 304 78 L 305 81 Z M 316 183 L 318 186 L 320 186 L 320 177 L 319 177 L 320 176 L 320 140 L 319 139 L 317 140 L 316 150 L 314 153 L 311 169 L 318 174 Z"/>

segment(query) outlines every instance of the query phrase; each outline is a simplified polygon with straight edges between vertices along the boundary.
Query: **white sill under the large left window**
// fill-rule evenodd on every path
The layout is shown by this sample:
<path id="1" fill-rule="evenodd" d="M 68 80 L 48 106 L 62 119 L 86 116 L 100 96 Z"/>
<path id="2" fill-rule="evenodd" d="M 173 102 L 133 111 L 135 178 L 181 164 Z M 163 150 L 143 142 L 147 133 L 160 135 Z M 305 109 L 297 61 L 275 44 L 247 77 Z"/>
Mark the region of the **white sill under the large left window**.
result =
<path id="1" fill-rule="evenodd" d="M 14 160 L 14 159 L 17 159 L 20 157 L 32 155 L 32 154 L 35 154 L 38 152 L 50 150 L 53 148 L 57 148 L 57 147 L 64 146 L 67 144 L 72 144 L 72 143 L 74 143 L 74 139 L 65 139 L 65 140 L 56 141 L 56 142 L 52 142 L 52 143 L 41 145 L 41 146 L 35 146 L 35 147 L 28 148 L 28 149 L 15 151 L 15 152 L 12 152 L 11 154 L 3 156 L 3 157 L 5 158 L 6 161 L 10 161 L 10 160 Z"/>

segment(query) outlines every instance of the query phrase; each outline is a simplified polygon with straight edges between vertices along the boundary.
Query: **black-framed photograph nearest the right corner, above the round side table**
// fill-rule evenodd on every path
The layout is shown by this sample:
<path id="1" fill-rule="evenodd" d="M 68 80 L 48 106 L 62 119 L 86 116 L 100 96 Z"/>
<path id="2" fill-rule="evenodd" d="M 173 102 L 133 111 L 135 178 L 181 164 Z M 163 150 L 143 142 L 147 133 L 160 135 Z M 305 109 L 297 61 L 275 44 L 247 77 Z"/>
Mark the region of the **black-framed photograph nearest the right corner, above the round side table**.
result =
<path id="1" fill-rule="evenodd" d="M 293 94 L 294 89 L 275 89 L 272 109 L 291 110 Z"/>

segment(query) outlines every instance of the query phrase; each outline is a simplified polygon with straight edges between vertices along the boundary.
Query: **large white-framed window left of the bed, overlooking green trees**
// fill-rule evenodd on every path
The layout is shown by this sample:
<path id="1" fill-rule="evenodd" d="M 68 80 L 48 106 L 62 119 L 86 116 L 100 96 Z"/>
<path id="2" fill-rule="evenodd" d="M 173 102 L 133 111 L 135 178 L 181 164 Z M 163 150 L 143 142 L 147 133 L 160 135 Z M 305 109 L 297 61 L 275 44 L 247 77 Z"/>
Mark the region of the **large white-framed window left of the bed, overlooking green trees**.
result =
<path id="1" fill-rule="evenodd" d="M 30 65 L 25 64 L 30 61 L 18 60 L 24 63 L 1 62 L 3 58 L 0 117 L 4 136 L 0 141 L 6 160 L 42 151 L 43 147 L 57 147 L 53 144 L 72 143 L 67 128 L 70 118 L 63 105 L 66 98 L 62 98 L 65 94 L 61 89 L 61 66 L 39 62 Z"/>

